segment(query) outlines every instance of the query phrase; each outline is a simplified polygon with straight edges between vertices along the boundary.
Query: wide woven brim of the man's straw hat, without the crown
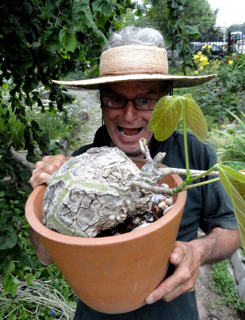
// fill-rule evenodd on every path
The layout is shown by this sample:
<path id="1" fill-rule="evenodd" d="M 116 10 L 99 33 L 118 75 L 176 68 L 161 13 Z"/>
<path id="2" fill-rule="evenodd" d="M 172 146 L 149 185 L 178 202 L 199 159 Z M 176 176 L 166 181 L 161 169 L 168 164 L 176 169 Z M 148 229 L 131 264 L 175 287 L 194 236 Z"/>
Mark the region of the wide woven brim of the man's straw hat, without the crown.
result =
<path id="1" fill-rule="evenodd" d="M 149 74 L 137 74 L 137 75 L 120 75 L 120 76 L 105 76 L 96 79 L 78 80 L 78 81 L 56 81 L 57 84 L 70 85 L 74 87 L 80 87 L 85 89 L 99 89 L 99 84 L 109 84 L 114 82 L 123 81 L 148 81 L 148 80 L 171 80 L 174 88 L 188 88 L 196 85 L 204 84 L 217 77 L 217 75 L 208 76 L 171 76 L 171 75 L 149 75 Z"/>

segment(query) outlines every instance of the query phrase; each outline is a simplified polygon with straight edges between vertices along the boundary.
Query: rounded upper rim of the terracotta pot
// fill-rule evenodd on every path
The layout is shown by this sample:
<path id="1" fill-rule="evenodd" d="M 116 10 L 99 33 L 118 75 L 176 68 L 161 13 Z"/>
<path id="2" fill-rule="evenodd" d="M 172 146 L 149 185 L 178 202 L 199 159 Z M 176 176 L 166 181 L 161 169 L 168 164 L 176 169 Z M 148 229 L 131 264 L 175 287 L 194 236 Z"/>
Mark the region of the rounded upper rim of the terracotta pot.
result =
<path id="1" fill-rule="evenodd" d="M 137 160 L 141 162 L 145 162 L 145 159 L 142 158 L 132 158 L 132 160 Z M 166 167 L 164 165 L 160 165 L 161 167 Z M 177 185 L 179 186 L 183 181 L 177 174 L 171 175 L 173 179 L 176 181 Z M 55 242 L 60 242 L 64 244 L 71 244 L 71 245 L 84 245 L 84 246 L 101 246 L 101 245 L 108 245 L 108 244 L 118 244 L 124 241 L 130 241 L 139 237 L 142 237 L 146 234 L 152 233 L 157 229 L 161 228 L 163 225 L 167 224 L 170 220 L 172 220 L 175 216 L 177 216 L 178 212 L 182 209 L 183 203 L 186 201 L 186 191 L 180 192 L 177 196 L 177 200 L 175 201 L 174 206 L 172 209 L 167 212 L 162 218 L 151 223 L 150 225 L 135 230 L 134 232 L 125 233 L 122 235 L 117 236 L 109 236 L 103 238 L 82 238 L 82 237 L 75 237 L 75 236 L 66 236 L 60 234 L 56 231 L 50 230 L 49 228 L 45 227 L 36 217 L 36 215 L 30 210 L 30 208 L 35 207 L 35 202 L 39 193 L 44 193 L 44 190 L 47 188 L 47 184 L 42 184 L 34 189 L 34 191 L 29 196 L 27 203 L 26 203 L 26 218 L 28 223 L 30 224 L 31 228 L 34 229 L 38 234 L 53 240 Z M 160 239 L 159 239 L 160 241 Z"/>

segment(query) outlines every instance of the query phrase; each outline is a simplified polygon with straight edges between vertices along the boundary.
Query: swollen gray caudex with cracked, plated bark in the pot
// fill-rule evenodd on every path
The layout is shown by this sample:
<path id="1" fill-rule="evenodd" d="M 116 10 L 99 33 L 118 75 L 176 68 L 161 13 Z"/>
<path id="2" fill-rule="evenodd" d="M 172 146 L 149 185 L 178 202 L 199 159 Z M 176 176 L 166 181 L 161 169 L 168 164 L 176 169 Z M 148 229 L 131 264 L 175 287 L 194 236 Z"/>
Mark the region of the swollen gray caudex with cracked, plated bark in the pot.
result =
<path id="1" fill-rule="evenodd" d="M 131 183 L 156 186 L 165 153 L 151 159 L 142 142 L 141 148 L 147 158 L 142 171 L 118 148 L 91 148 L 68 160 L 48 182 L 43 224 L 65 235 L 95 237 L 130 215 L 149 212 L 152 192 Z"/>

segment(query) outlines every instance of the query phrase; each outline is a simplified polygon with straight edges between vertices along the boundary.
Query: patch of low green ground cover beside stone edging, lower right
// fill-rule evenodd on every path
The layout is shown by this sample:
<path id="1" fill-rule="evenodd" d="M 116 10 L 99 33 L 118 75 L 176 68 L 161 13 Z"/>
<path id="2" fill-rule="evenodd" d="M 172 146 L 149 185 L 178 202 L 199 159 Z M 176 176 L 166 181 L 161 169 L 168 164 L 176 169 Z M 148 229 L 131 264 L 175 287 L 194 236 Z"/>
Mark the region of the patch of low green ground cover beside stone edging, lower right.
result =
<path id="1" fill-rule="evenodd" d="M 218 292 L 224 296 L 230 308 L 243 310 L 245 304 L 234 289 L 234 278 L 228 274 L 227 264 L 228 262 L 224 260 L 213 265 L 213 282 L 217 286 Z"/>

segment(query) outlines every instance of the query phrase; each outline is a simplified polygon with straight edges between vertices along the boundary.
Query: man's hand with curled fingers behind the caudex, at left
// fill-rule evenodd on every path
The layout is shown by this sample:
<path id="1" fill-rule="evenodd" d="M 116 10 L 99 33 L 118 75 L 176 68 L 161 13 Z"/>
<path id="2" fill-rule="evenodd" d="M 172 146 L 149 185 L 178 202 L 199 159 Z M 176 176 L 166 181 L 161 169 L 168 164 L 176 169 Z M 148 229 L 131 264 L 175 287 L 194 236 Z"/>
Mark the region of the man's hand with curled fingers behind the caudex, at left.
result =
<path id="1" fill-rule="evenodd" d="M 64 155 L 45 156 L 42 161 L 36 163 L 35 169 L 32 172 L 30 183 L 33 189 L 43 183 L 48 183 L 51 175 L 58 171 L 58 169 L 64 164 L 70 157 Z"/>

